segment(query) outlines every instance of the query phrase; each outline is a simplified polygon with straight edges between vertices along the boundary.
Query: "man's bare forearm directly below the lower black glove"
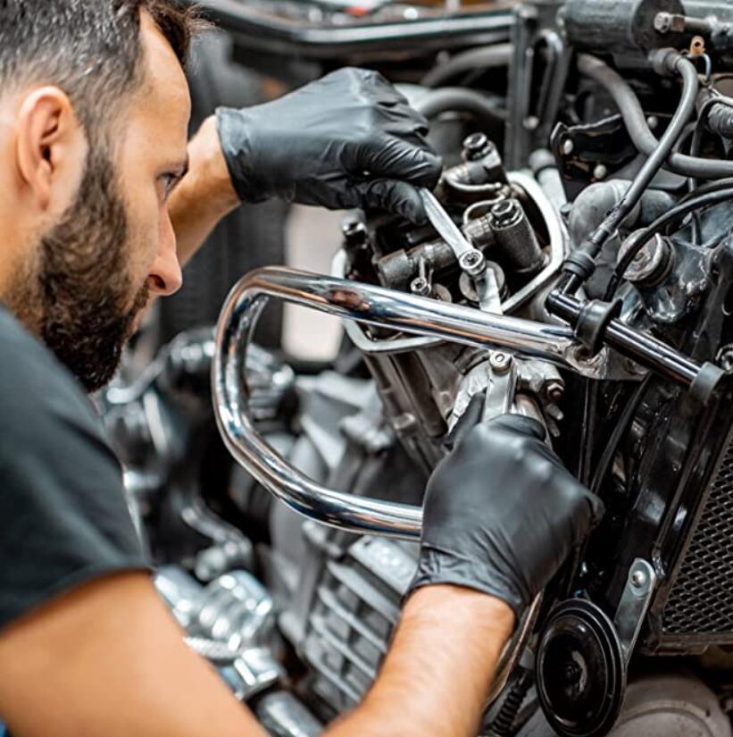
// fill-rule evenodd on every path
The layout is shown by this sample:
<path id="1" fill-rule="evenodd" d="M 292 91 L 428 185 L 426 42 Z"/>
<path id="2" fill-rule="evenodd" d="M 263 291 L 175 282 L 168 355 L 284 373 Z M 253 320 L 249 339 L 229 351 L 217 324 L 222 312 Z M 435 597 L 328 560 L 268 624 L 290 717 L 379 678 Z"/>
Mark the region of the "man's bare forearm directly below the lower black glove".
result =
<path id="1" fill-rule="evenodd" d="M 377 682 L 324 737 L 475 737 L 513 626 L 499 599 L 454 586 L 416 591 Z"/>

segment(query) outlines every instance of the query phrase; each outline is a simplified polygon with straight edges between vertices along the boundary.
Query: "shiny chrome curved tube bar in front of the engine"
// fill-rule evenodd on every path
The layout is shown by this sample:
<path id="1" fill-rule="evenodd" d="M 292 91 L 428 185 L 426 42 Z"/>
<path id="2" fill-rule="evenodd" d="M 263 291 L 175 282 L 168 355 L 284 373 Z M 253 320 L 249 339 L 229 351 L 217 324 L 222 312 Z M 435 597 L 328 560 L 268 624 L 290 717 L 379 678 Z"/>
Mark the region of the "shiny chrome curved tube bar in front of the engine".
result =
<path id="1" fill-rule="evenodd" d="M 342 530 L 414 540 L 420 537 L 421 507 L 328 489 L 279 456 L 254 428 L 246 382 L 246 349 L 268 298 L 311 307 L 347 320 L 540 358 L 599 378 L 575 359 L 570 328 L 531 322 L 428 297 L 382 289 L 283 267 L 247 274 L 231 290 L 216 331 L 212 367 L 214 415 L 237 463 L 288 507 Z"/>

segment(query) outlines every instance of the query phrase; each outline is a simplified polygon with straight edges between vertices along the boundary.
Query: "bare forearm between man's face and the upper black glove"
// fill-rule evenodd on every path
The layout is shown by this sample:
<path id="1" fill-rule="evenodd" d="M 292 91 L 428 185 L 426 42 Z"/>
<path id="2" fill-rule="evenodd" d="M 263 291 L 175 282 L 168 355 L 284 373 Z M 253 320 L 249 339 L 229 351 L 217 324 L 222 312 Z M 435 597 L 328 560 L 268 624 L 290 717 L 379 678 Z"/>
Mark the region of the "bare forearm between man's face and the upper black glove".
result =
<path id="1" fill-rule="evenodd" d="M 189 171 L 173 191 L 169 205 L 181 265 L 187 264 L 221 219 L 239 205 L 213 117 L 191 139 L 188 155 Z"/>

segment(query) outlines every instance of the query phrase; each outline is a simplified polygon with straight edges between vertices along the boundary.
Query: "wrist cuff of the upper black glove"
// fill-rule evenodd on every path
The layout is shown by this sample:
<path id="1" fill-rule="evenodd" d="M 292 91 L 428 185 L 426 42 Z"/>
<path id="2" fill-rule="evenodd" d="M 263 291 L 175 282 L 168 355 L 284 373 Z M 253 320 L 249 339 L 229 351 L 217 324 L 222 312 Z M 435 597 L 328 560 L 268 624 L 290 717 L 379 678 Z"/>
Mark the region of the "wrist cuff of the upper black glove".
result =
<path id="1" fill-rule="evenodd" d="M 245 111 L 230 107 L 216 109 L 216 130 L 232 186 L 241 202 L 256 204 L 270 199 L 272 194 L 254 173 L 250 128 L 251 120 Z"/>

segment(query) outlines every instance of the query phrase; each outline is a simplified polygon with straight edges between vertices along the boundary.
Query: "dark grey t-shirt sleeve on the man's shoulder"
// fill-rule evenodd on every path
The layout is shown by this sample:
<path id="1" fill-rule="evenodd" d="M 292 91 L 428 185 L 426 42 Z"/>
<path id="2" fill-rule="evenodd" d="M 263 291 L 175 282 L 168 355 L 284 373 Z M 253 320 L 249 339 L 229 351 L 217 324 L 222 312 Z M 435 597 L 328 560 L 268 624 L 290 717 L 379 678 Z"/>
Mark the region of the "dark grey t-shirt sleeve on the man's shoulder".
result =
<path id="1" fill-rule="evenodd" d="M 0 628 L 84 582 L 146 569 L 121 467 L 80 385 L 0 313 Z"/>

